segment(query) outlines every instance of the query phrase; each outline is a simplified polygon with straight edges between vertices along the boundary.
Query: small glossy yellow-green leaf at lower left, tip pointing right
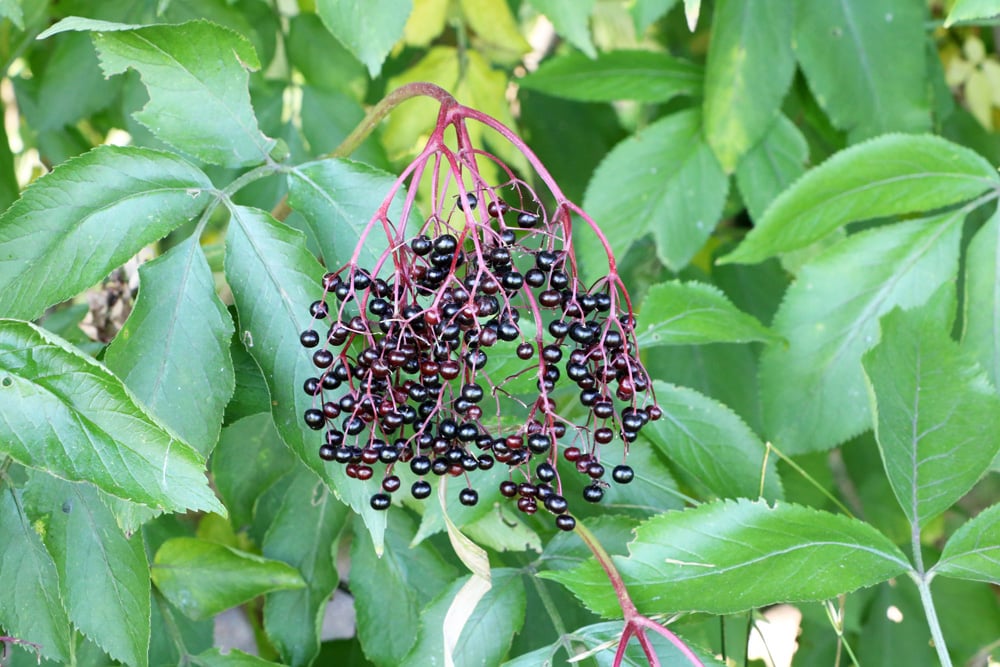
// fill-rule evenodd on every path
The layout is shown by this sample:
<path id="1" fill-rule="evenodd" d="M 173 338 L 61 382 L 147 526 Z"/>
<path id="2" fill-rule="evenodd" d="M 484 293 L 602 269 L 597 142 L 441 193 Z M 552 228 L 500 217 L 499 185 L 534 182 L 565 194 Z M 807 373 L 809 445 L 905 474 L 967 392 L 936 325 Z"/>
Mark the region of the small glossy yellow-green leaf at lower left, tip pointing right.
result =
<path id="1" fill-rule="evenodd" d="M 264 593 L 306 585 L 290 565 L 195 537 L 164 542 L 151 573 L 163 596 L 196 621 Z"/>

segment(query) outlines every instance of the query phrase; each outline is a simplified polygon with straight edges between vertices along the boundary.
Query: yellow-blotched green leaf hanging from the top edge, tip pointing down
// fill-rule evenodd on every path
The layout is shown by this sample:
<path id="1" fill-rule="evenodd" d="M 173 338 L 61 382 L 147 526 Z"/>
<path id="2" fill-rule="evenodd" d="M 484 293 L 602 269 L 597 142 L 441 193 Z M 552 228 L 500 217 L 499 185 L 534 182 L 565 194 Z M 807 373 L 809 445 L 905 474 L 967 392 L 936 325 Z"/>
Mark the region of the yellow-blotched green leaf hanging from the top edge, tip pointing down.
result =
<path id="1" fill-rule="evenodd" d="M 705 136 L 726 173 L 767 132 L 792 83 L 795 11 L 783 0 L 723 0 L 712 12 Z"/>

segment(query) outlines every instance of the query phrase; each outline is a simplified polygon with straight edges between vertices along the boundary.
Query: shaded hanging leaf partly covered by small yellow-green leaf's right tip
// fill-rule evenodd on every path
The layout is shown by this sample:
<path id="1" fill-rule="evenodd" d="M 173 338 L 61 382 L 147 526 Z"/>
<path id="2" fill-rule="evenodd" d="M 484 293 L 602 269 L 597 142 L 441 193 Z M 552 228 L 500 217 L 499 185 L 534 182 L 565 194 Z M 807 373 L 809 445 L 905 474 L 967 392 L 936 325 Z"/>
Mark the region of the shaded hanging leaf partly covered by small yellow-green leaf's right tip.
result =
<path id="1" fill-rule="evenodd" d="M 292 565 L 306 581 L 305 588 L 269 593 L 264 603 L 264 629 L 291 667 L 310 665 L 319 654 L 323 614 L 338 581 L 335 546 L 347 518 L 347 506 L 300 466 L 264 536 L 264 556 Z"/>

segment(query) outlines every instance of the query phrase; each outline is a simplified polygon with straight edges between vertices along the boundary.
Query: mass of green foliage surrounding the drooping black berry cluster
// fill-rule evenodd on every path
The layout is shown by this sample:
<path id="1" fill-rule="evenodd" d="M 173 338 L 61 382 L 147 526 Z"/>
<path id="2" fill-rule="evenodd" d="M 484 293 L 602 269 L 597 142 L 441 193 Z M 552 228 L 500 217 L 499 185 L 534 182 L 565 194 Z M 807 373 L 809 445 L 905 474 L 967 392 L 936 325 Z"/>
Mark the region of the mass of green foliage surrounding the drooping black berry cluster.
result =
<path id="1" fill-rule="evenodd" d="M 331 151 L 411 81 L 515 127 L 619 256 L 666 418 L 578 518 L 643 613 L 706 664 L 779 602 L 796 664 L 1000 656 L 997 13 L 0 0 L 0 662 L 611 664 L 576 536 L 492 499 L 373 512 L 301 425 L 317 258 L 435 103 Z M 492 567 L 464 624 L 455 527 Z M 322 641 L 331 594 L 356 633 Z M 260 657 L 213 648 L 237 605 Z"/>

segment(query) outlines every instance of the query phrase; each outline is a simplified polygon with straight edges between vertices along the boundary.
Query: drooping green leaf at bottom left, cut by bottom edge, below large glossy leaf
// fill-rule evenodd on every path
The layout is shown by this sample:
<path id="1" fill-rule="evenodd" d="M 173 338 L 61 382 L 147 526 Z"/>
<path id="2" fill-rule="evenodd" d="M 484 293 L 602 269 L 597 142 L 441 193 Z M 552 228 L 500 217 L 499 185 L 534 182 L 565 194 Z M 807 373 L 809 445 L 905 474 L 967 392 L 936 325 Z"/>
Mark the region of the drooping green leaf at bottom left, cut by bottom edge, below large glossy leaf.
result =
<path id="1" fill-rule="evenodd" d="M 33 475 L 25 502 L 39 515 L 73 624 L 111 657 L 149 663 L 149 565 L 89 484 Z"/>

